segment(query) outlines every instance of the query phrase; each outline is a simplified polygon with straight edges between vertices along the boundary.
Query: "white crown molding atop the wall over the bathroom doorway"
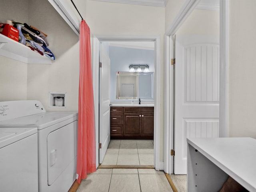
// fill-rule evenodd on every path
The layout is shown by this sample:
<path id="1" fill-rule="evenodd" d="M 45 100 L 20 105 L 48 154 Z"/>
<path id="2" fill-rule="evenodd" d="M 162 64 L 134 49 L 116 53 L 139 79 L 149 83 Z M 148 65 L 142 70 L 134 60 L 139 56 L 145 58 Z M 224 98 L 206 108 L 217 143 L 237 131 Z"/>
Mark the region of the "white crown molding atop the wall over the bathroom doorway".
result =
<path id="1" fill-rule="evenodd" d="M 94 0 L 94 1 L 158 6 L 158 7 L 165 7 L 167 3 L 167 0 Z"/>

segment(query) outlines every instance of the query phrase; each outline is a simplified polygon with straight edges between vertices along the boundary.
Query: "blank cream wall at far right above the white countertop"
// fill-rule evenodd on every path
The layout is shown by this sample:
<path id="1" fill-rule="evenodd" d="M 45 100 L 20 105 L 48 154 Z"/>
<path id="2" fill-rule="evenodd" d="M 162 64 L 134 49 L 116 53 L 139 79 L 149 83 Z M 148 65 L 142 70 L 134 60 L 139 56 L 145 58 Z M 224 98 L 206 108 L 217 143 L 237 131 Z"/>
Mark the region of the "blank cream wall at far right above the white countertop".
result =
<path id="1" fill-rule="evenodd" d="M 229 3 L 229 133 L 256 138 L 256 1 Z"/>

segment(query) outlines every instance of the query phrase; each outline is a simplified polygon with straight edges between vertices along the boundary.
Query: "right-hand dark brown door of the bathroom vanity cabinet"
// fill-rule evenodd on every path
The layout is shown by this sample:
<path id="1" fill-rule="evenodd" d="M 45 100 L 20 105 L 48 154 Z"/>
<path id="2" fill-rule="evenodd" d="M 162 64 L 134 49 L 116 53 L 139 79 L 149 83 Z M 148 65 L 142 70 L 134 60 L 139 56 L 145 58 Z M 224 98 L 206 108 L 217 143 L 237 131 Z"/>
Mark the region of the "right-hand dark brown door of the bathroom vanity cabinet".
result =
<path id="1" fill-rule="evenodd" d="M 154 135 L 154 114 L 142 114 L 141 136 Z"/>

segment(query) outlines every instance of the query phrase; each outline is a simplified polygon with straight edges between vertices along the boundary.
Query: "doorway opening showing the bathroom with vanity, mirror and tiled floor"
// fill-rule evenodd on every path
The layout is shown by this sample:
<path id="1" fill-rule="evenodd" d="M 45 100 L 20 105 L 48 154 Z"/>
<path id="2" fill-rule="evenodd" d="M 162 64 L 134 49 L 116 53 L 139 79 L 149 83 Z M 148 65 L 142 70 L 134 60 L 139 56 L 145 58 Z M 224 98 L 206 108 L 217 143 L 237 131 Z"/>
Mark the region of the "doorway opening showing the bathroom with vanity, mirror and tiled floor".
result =
<path id="1" fill-rule="evenodd" d="M 100 84 L 108 86 L 106 82 L 110 79 L 110 94 L 100 85 L 99 142 L 103 148 L 108 144 L 108 148 L 106 153 L 104 149 L 100 151 L 99 163 L 101 167 L 154 166 L 154 42 L 100 43 L 103 46 L 100 49 Z M 107 59 L 101 58 L 106 55 Z M 108 61 L 110 77 L 102 82 Z M 134 72 L 130 72 L 130 65 L 134 66 Z M 142 72 L 135 67 L 138 65 Z M 110 98 L 101 99 L 104 94 Z M 101 102 L 106 100 L 110 103 L 110 128 L 109 122 L 104 120 L 106 112 L 101 110 Z"/>

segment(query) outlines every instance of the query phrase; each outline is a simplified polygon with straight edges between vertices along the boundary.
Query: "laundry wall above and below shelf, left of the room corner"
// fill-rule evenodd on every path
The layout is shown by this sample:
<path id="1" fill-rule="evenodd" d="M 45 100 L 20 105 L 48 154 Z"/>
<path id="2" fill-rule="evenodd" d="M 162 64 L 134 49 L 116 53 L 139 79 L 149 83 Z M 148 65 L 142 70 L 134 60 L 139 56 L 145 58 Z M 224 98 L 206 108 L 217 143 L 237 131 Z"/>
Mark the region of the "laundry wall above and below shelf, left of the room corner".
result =
<path id="1" fill-rule="evenodd" d="M 15 8 L 20 11 L 11 11 Z M 28 21 L 28 0 L 1 0 L 0 23 L 6 20 Z M 26 100 L 27 64 L 0 56 L 0 101 Z"/>

